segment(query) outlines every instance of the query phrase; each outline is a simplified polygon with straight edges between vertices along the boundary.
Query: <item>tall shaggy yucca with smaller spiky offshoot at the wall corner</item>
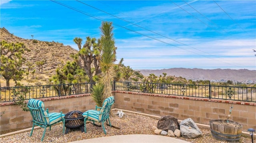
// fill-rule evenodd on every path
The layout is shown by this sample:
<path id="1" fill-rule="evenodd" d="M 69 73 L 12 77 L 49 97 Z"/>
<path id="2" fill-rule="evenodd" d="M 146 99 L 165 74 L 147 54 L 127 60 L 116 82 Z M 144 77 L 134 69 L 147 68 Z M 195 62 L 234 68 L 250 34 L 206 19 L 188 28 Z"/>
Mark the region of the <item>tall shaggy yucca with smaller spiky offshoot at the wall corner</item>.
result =
<path id="1" fill-rule="evenodd" d="M 112 81 L 115 77 L 114 61 L 116 60 L 114 46 L 114 34 L 112 33 L 114 27 L 110 22 L 102 22 L 100 27 L 102 35 L 100 38 L 100 48 L 102 52 L 99 53 L 99 65 L 101 69 L 100 76 L 94 76 L 94 80 L 98 80 L 98 84 L 92 87 L 92 100 L 96 102 L 97 106 L 102 107 L 103 101 L 112 96 Z"/>

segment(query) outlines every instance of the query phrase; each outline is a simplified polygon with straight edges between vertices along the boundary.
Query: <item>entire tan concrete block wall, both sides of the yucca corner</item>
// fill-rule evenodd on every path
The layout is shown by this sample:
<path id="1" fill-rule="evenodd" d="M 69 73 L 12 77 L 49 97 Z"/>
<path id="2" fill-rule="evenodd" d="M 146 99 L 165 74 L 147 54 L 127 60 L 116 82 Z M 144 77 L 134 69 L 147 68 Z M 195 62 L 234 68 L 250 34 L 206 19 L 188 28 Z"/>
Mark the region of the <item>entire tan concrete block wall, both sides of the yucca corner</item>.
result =
<path id="1" fill-rule="evenodd" d="M 256 103 L 229 100 L 209 100 L 185 96 L 168 96 L 161 94 L 146 94 L 138 92 L 114 91 L 115 103 L 112 108 L 130 110 L 155 116 L 172 115 L 180 120 L 192 118 L 196 123 L 208 124 L 211 119 L 227 119 L 230 107 L 234 108 L 230 120 L 243 125 L 242 130 L 256 128 Z M 95 102 L 90 94 L 42 98 L 49 112 L 64 114 L 79 110 L 95 109 Z M 3 114 L 4 113 L 4 114 Z M 30 112 L 24 112 L 12 102 L 0 103 L 0 129 L 19 129 L 32 127 Z"/>

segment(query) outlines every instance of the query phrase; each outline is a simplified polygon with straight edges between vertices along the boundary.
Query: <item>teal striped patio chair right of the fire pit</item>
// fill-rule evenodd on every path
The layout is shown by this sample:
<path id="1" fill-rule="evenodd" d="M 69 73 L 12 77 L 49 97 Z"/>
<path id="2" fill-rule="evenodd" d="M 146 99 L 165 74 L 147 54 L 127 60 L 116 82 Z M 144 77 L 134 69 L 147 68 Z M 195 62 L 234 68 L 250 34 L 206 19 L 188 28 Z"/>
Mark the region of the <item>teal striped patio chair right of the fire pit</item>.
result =
<path id="1" fill-rule="evenodd" d="M 101 122 L 103 131 L 106 134 L 104 123 L 107 121 L 109 122 L 110 127 L 112 127 L 109 119 L 109 113 L 113 103 L 114 96 L 110 96 L 104 100 L 102 107 L 97 107 L 96 105 L 95 110 L 88 110 L 82 114 L 84 117 L 84 133 L 86 133 L 86 121 L 88 120 L 92 121 L 93 125 L 95 122 Z"/>

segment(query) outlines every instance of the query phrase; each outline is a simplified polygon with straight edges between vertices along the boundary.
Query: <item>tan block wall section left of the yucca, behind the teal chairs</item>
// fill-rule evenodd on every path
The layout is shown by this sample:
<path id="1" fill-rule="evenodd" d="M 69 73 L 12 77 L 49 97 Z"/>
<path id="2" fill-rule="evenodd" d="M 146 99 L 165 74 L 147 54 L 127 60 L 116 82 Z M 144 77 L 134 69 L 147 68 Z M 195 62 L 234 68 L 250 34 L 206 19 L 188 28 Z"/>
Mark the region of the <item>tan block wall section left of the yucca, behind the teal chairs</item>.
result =
<path id="1" fill-rule="evenodd" d="M 90 94 L 42 98 L 40 100 L 44 102 L 44 106 L 49 109 L 49 112 L 62 111 L 63 114 L 74 110 L 85 112 L 95 109 L 96 105 Z M 22 108 L 14 105 L 13 102 L 0 103 L 0 112 L 2 115 L 0 117 L 1 131 L 32 127 L 30 112 L 22 111 Z"/>

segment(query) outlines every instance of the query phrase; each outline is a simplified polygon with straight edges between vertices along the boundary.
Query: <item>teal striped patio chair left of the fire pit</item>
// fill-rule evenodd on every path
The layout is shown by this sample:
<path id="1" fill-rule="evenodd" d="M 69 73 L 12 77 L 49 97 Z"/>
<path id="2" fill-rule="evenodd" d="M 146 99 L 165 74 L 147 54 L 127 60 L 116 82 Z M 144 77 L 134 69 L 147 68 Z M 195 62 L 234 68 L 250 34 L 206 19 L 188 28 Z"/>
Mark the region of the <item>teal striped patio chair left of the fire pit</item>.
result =
<path id="1" fill-rule="evenodd" d="M 30 99 L 28 100 L 27 106 L 30 110 L 30 114 L 32 115 L 32 122 L 33 122 L 33 127 L 30 133 L 30 137 L 32 136 L 34 126 L 38 125 L 44 128 L 44 133 L 41 139 L 41 141 L 43 141 L 44 134 L 46 132 L 46 127 L 50 127 L 50 130 L 51 130 L 52 125 L 59 123 L 61 121 L 63 123 L 63 135 L 64 135 L 64 131 L 65 131 L 64 116 L 65 115 L 62 114 L 62 112 L 48 113 L 48 108 L 44 110 L 44 103 L 41 100 Z"/>

